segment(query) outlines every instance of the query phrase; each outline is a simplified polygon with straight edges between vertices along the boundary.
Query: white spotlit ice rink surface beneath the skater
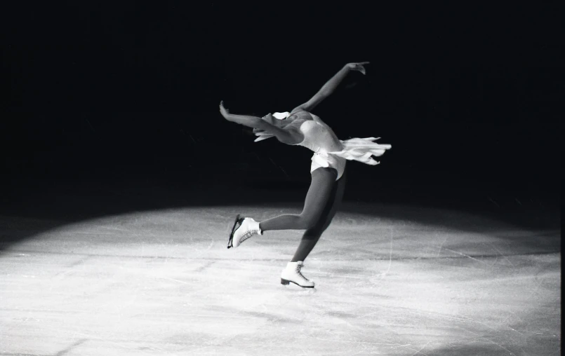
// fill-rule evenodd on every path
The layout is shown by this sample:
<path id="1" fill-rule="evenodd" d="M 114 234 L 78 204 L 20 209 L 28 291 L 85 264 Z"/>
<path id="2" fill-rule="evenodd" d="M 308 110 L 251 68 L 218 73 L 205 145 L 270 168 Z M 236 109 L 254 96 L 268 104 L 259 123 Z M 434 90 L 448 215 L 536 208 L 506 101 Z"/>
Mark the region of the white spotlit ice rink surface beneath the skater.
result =
<path id="1" fill-rule="evenodd" d="M 226 248 L 235 214 L 298 206 L 132 212 L 48 231 L 0 217 L 4 236 L 30 236 L 0 252 L 0 355 L 559 355 L 559 230 L 365 210 L 338 212 L 305 261 L 313 290 L 279 281 L 300 231 Z"/>

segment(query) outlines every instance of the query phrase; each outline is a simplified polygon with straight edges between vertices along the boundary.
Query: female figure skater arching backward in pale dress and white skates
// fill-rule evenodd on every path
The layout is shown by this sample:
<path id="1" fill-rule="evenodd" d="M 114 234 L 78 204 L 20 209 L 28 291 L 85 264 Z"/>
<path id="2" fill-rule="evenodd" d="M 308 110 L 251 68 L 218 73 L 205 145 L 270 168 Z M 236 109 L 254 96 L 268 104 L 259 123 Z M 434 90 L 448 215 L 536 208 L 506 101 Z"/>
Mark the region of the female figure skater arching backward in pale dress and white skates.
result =
<path id="1" fill-rule="evenodd" d="M 378 138 L 354 138 L 340 141 L 333 130 L 321 119 L 312 114 L 312 110 L 326 97 L 331 95 L 343 78 L 350 71 L 365 74 L 364 65 L 368 62 L 346 64 L 333 76 L 312 99 L 284 113 L 256 116 L 230 114 L 223 102 L 220 113 L 227 121 L 253 128 L 255 142 L 277 137 L 279 142 L 289 145 L 304 146 L 314 151 L 312 156 L 312 182 L 306 194 L 303 211 L 300 214 L 283 214 L 264 221 L 255 221 L 251 217 L 237 215 L 227 248 L 238 247 L 253 235 L 262 235 L 270 230 L 305 230 L 298 249 L 281 273 L 281 284 L 289 282 L 300 287 L 312 288 L 314 282 L 307 280 L 302 273 L 303 261 L 326 228 L 331 223 L 338 205 L 343 198 L 345 186 L 345 163 L 358 160 L 368 165 L 377 165 L 371 156 L 381 156 L 390 144 L 377 144 Z"/>

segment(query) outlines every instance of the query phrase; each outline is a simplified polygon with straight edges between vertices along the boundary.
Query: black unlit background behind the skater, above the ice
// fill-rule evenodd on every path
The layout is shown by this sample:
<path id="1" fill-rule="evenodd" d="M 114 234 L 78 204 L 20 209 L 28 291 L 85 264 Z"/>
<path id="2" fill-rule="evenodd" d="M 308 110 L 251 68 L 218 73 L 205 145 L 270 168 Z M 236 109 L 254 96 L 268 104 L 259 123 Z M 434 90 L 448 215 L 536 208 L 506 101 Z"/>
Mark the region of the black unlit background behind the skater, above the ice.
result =
<path id="1" fill-rule="evenodd" d="M 392 150 L 349 164 L 346 200 L 559 207 L 558 2 L 189 3 L 2 6 L 4 212 L 299 201 L 312 153 L 253 143 L 218 103 L 290 111 L 360 61 L 315 113 Z"/>

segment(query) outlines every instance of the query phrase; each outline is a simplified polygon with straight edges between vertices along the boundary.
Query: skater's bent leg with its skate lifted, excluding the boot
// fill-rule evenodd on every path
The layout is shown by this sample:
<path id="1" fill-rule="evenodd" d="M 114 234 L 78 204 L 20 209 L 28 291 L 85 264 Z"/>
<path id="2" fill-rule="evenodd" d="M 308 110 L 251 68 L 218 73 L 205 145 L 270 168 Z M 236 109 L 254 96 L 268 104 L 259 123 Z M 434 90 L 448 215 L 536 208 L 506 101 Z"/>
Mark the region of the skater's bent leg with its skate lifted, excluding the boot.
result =
<path id="1" fill-rule="evenodd" d="M 338 172 L 333 168 L 314 170 L 303 211 L 300 214 L 284 214 L 261 221 L 259 224 L 261 231 L 307 230 L 316 226 L 324 214 L 324 208 L 331 200 L 333 191 L 335 191 L 337 184 L 335 178 L 337 176 Z"/>

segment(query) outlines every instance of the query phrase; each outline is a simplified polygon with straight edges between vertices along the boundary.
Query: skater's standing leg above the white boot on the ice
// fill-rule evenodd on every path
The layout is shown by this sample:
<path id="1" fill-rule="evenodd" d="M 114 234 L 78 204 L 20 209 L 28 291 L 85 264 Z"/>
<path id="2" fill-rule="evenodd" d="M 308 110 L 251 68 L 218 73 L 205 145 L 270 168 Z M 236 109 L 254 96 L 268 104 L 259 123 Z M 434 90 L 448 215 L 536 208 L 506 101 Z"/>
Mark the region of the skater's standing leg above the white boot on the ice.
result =
<path id="1" fill-rule="evenodd" d="M 326 204 L 326 207 L 324 207 L 324 210 L 322 211 L 321 217 L 317 224 L 305 231 L 291 262 L 304 261 L 308 254 L 312 252 L 312 249 L 317 244 L 321 234 L 326 231 L 326 228 L 328 228 L 328 226 L 330 226 L 331 221 L 335 216 L 335 212 L 338 211 L 338 207 L 343 200 L 344 191 L 345 172 L 343 172 L 343 175 L 340 177 L 337 184 L 334 185 L 331 196 L 328 199 L 328 203 Z"/>

